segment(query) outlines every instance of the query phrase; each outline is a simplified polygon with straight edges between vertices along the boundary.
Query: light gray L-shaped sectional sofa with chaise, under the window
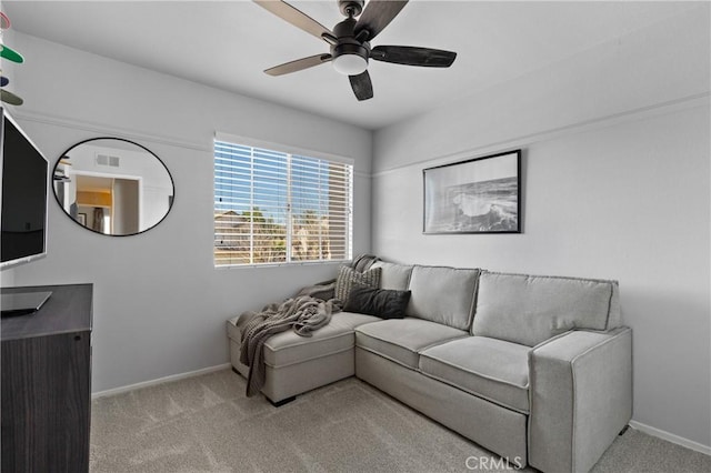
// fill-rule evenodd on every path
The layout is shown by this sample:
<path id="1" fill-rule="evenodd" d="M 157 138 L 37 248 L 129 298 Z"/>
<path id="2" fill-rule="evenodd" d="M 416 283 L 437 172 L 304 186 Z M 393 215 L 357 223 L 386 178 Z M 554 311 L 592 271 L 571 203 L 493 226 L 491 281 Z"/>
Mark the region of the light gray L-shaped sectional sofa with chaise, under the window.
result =
<path id="1" fill-rule="evenodd" d="M 274 403 L 356 375 L 513 465 L 590 470 L 632 414 L 632 333 L 614 281 L 377 262 L 407 316 L 340 312 L 264 345 Z M 237 318 L 228 321 L 239 362 Z"/>

